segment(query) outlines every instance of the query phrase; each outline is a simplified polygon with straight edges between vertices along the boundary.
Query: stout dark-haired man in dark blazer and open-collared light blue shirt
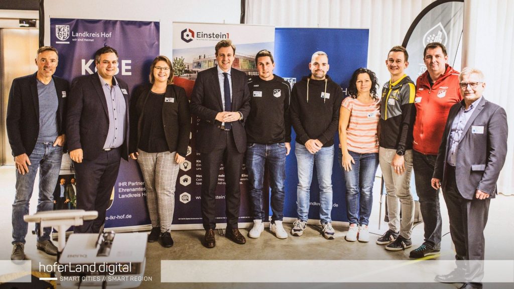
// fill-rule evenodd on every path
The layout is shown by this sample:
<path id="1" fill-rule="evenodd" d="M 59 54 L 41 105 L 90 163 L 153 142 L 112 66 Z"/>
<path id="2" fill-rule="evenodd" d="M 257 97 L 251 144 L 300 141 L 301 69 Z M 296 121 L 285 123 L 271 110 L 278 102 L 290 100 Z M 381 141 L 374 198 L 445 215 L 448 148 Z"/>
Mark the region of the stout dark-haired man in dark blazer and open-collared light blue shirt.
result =
<path id="1" fill-rule="evenodd" d="M 114 77 L 118 52 L 102 47 L 95 53 L 98 73 L 76 78 L 68 105 L 68 148 L 75 163 L 77 209 L 98 211 L 75 232 L 97 233 L 116 183 L 120 159 L 128 157 L 128 86 Z"/>

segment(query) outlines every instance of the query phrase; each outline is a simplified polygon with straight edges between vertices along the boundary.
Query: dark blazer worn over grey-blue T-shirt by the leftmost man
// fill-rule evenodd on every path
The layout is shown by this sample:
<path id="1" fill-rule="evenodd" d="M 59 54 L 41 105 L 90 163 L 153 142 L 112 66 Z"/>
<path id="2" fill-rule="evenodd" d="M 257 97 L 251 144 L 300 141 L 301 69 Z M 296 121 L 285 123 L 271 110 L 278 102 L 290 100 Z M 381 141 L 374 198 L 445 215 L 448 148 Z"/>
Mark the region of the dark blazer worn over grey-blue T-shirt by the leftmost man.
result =
<path id="1" fill-rule="evenodd" d="M 69 83 L 57 76 L 52 76 L 52 79 L 59 101 L 57 129 L 59 135 L 62 135 L 66 128 L 65 111 Z M 39 135 L 39 96 L 36 73 L 12 81 L 6 124 L 12 155 L 18 156 L 24 153 L 30 155 Z"/>

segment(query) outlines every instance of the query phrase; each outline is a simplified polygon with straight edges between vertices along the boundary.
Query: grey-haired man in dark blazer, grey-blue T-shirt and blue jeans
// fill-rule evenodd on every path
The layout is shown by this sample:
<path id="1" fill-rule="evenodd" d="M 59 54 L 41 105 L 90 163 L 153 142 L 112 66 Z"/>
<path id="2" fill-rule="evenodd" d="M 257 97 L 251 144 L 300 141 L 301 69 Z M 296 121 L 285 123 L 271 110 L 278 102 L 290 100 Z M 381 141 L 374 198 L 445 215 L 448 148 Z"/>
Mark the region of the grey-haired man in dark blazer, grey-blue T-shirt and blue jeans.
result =
<path id="1" fill-rule="evenodd" d="M 65 117 L 69 84 L 53 76 L 59 56 L 56 48 L 38 49 L 35 64 L 38 71 L 14 79 L 7 106 L 7 136 L 16 165 L 16 196 L 12 205 L 12 260 L 25 259 L 24 245 L 28 224 L 23 216 L 29 213 L 29 201 L 34 179 L 40 168 L 37 211 L 53 209 L 53 189 L 56 187 L 66 136 Z M 50 241 L 51 228 L 36 224 L 38 249 L 57 255 Z"/>

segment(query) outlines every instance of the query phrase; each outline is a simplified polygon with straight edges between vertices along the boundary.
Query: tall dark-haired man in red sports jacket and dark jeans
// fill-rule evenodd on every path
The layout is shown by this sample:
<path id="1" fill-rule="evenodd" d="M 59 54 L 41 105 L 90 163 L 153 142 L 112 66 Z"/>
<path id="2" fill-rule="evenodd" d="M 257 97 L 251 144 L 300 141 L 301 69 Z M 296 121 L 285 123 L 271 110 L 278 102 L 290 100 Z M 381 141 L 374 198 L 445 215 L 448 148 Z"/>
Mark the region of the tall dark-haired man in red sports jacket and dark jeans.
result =
<path id="1" fill-rule="evenodd" d="M 410 258 L 436 255 L 440 251 L 439 195 L 430 180 L 450 107 L 462 100 L 458 72 L 447 64 L 447 60 L 443 44 L 429 43 L 424 51 L 427 71 L 416 80 L 413 162 L 416 192 L 425 225 L 425 242 L 410 252 Z"/>

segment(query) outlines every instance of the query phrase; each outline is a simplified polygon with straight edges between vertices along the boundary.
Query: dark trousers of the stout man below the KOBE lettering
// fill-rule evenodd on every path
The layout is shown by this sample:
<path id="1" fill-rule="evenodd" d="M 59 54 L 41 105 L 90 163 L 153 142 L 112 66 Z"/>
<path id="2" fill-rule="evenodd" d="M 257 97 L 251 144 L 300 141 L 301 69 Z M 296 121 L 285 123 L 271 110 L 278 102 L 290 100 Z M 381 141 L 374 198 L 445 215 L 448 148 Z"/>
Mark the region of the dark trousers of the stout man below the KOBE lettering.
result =
<path id="1" fill-rule="evenodd" d="M 102 151 L 96 159 L 75 162 L 77 209 L 98 211 L 98 218 L 75 227 L 76 233 L 98 233 L 105 223 L 114 184 L 120 169 L 121 149 Z"/>

